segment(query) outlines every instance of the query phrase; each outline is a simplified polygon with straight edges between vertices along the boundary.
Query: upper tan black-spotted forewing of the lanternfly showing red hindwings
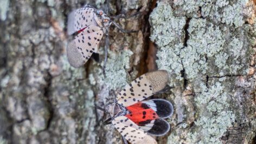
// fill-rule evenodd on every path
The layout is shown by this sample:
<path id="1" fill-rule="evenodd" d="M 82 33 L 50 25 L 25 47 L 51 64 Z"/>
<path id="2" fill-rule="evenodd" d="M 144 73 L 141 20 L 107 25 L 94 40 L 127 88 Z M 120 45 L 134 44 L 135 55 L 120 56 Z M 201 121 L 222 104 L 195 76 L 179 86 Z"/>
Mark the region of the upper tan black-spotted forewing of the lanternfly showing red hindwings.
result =
<path id="1" fill-rule="evenodd" d="M 167 83 L 168 72 L 165 70 L 145 73 L 126 85 L 124 90 L 117 95 L 118 104 L 125 107 L 136 104 L 138 101 L 163 90 Z"/>

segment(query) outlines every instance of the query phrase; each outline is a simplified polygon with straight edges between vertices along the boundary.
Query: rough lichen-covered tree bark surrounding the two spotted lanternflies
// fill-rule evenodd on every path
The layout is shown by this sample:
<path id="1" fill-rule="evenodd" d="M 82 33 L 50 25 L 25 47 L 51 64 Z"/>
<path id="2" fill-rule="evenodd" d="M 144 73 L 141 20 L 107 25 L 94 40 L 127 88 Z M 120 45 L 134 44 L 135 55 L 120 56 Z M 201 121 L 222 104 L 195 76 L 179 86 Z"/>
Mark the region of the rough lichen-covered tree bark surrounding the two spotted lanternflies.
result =
<path id="1" fill-rule="evenodd" d="M 136 33 L 111 27 L 106 78 L 102 60 L 77 69 L 67 61 L 67 15 L 87 3 L 105 8 L 100 0 L 0 2 L 0 143 L 121 143 L 94 104 L 156 68 L 174 88 L 153 97 L 175 107 L 158 143 L 255 143 L 254 1 L 111 1 L 110 15 L 143 13 L 117 20 Z"/>

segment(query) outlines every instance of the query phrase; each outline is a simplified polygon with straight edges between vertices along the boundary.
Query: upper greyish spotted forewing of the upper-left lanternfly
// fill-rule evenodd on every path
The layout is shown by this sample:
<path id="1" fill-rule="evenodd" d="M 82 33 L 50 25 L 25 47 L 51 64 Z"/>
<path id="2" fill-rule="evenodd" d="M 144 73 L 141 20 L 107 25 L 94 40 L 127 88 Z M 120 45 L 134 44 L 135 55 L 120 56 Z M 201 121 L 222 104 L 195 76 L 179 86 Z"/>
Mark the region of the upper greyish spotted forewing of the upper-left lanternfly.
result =
<path id="1" fill-rule="evenodd" d="M 95 25 L 93 8 L 85 7 L 69 13 L 67 26 L 68 35 L 72 35 L 74 32 L 82 30 L 89 25 Z"/>

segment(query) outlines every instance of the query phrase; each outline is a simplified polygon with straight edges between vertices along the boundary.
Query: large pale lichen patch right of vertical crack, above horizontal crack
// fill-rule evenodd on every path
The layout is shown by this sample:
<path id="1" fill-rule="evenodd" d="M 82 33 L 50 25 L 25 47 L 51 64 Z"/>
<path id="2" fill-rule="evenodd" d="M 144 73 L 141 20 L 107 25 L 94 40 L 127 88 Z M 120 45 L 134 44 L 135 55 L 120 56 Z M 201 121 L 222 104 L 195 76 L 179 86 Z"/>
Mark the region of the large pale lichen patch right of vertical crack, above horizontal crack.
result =
<path id="1" fill-rule="evenodd" d="M 190 20 L 188 46 L 180 54 L 187 78 L 195 79 L 199 73 L 209 77 L 247 73 L 249 47 L 242 38 L 245 31 L 235 31 L 234 35 L 227 35 L 227 31 L 225 25 L 217 26 L 206 19 Z"/>

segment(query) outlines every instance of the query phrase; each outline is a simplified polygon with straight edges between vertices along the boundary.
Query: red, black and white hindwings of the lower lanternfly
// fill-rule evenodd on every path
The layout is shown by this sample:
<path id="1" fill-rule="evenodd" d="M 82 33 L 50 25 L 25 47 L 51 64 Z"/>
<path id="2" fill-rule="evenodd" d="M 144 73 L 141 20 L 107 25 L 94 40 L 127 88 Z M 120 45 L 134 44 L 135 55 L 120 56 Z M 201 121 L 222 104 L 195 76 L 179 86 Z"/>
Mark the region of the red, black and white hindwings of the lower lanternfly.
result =
<path id="1" fill-rule="evenodd" d="M 169 101 L 163 99 L 144 100 L 126 108 L 131 113 L 125 116 L 145 132 L 157 136 L 169 132 L 170 125 L 162 119 L 173 113 L 173 107 Z"/>

